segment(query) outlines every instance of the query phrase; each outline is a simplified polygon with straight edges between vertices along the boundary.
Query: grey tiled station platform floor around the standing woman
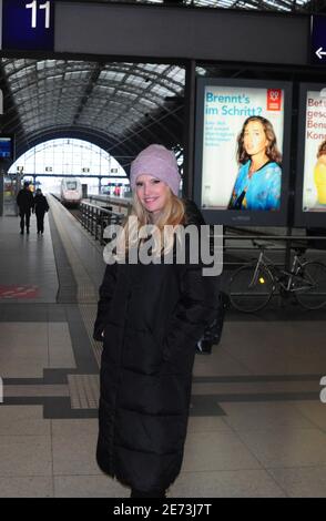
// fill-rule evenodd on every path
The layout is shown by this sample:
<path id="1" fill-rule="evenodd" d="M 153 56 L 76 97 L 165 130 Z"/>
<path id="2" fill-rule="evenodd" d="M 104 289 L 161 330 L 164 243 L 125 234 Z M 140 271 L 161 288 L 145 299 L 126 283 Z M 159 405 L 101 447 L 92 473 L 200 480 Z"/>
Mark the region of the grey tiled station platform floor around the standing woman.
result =
<path id="1" fill-rule="evenodd" d="M 0 497 L 126 498 L 95 462 L 102 247 L 49 202 L 43 236 L 0 218 Z M 325 314 L 226 314 L 167 498 L 326 496 Z"/>

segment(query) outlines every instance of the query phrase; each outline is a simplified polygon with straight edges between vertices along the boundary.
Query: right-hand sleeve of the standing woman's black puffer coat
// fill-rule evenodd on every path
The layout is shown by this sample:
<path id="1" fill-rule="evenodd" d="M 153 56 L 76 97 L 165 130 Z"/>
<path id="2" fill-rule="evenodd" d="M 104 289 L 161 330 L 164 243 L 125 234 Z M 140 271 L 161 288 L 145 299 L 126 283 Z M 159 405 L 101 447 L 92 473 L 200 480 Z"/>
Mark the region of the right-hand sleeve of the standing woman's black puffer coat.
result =
<path id="1" fill-rule="evenodd" d="M 163 340 L 163 357 L 194 348 L 218 313 L 218 277 L 203 276 L 201 265 L 183 266 L 181 297 Z"/>

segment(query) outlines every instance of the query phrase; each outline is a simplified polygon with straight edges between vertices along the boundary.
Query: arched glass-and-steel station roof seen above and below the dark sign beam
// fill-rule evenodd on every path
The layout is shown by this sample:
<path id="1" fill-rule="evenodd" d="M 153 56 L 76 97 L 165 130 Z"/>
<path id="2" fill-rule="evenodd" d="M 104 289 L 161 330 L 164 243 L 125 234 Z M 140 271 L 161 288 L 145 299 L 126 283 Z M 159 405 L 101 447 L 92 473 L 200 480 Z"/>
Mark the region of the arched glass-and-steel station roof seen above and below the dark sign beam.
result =
<path id="1" fill-rule="evenodd" d="M 131 1 L 134 2 L 182 3 Z M 273 11 L 294 7 L 299 11 L 309 4 L 306 0 L 184 0 L 182 3 L 184 8 Z M 2 132 L 16 134 L 17 157 L 42 141 L 62 136 L 91 141 L 126 160 L 152 142 L 170 147 L 183 142 L 185 71 L 181 67 L 2 58 L 0 75 L 7 108 Z"/>

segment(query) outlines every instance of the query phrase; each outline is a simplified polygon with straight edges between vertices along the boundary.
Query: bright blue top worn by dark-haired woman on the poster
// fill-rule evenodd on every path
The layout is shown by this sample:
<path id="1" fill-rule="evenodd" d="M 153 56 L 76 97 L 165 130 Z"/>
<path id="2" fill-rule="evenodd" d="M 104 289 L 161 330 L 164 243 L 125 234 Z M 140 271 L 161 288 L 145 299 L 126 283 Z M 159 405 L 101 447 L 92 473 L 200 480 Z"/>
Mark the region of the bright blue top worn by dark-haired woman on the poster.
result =
<path id="1" fill-rule="evenodd" d="M 251 160 L 241 166 L 228 204 L 230 210 L 279 210 L 281 166 L 269 161 L 249 177 Z"/>

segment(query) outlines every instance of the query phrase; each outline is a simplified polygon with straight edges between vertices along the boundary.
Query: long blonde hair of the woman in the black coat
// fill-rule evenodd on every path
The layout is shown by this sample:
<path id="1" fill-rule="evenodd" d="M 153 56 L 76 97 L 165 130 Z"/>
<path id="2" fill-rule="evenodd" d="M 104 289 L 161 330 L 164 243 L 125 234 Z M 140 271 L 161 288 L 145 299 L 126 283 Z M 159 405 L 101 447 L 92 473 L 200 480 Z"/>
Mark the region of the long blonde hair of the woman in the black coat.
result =
<path id="1" fill-rule="evenodd" d="M 134 217 L 134 218 L 130 218 Z M 173 248 L 175 227 L 185 222 L 184 203 L 169 190 L 166 205 L 159 218 L 153 223 L 151 212 L 142 205 L 136 192 L 133 194 L 133 210 L 126 217 L 123 231 L 116 242 L 116 258 L 121 258 L 129 248 L 137 248 L 146 239 L 140 234 L 142 227 L 149 226 L 149 235 L 153 241 L 152 255 L 167 254 Z M 154 226 L 151 226 L 154 225 Z"/>

